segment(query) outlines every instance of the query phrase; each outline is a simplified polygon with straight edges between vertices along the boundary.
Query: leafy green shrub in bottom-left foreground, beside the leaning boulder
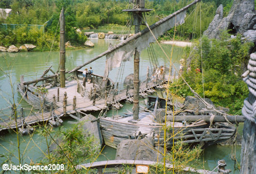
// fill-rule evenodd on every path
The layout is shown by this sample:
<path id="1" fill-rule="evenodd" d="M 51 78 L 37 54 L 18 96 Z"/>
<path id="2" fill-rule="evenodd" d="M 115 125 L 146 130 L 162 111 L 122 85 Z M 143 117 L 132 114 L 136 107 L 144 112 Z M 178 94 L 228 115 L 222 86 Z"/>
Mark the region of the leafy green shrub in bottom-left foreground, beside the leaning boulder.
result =
<path id="1" fill-rule="evenodd" d="M 93 161 L 99 153 L 99 145 L 95 143 L 95 138 L 88 136 L 88 132 L 82 129 L 81 124 L 68 129 L 61 128 L 55 133 L 59 138 L 59 141 L 56 141 L 58 145 L 46 161 L 50 161 L 50 164 L 64 164 L 64 173 L 75 172 L 74 166 Z"/>

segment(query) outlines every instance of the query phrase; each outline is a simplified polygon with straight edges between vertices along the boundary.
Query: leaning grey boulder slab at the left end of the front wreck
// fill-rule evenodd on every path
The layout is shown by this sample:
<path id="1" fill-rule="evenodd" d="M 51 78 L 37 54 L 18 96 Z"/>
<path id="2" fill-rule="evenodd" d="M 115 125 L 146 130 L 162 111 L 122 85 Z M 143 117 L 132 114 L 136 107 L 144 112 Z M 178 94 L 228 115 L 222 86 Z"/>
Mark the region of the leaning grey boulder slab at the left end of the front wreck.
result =
<path id="1" fill-rule="evenodd" d="M 91 122 L 92 120 L 96 120 L 96 117 L 94 117 L 94 115 L 87 114 L 82 119 L 80 119 L 79 123 L 82 122 L 82 127 L 86 133 L 93 135 L 95 137 L 96 144 L 101 147 L 103 144 L 103 139 L 101 135 L 100 124 L 97 121 Z"/>

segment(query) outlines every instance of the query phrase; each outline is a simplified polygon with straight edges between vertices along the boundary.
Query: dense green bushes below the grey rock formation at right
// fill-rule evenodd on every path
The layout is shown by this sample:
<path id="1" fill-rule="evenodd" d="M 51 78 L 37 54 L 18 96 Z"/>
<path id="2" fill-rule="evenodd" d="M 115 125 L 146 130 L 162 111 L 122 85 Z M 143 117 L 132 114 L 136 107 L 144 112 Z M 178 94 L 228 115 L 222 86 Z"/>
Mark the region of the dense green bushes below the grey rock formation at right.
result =
<path id="1" fill-rule="evenodd" d="M 248 95 L 241 74 L 246 70 L 251 46 L 252 43 L 241 42 L 241 35 L 230 38 L 226 32 L 221 40 L 203 37 L 202 59 L 200 43 L 195 48 L 187 48 L 188 58 L 182 76 L 200 96 L 205 95 L 216 105 L 228 107 L 230 114 L 241 114 L 243 101 Z M 191 70 L 187 70 L 189 66 Z M 196 73 L 197 67 L 203 73 Z M 181 97 L 193 95 L 181 78 L 173 86 L 176 87 L 170 90 Z"/>

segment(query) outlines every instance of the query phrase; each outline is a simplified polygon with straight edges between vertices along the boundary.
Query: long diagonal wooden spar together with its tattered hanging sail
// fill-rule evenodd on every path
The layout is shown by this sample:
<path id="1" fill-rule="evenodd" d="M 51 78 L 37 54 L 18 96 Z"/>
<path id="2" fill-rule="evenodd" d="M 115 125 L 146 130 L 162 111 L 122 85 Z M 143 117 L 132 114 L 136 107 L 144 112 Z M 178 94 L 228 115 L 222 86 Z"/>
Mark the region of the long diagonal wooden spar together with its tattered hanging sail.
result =
<path id="1" fill-rule="evenodd" d="M 170 14 L 155 24 L 151 25 L 150 29 L 152 30 L 153 34 L 158 37 L 167 30 L 170 30 L 172 27 L 174 27 L 175 24 L 177 25 L 184 23 L 186 9 L 198 2 L 200 2 L 200 0 L 194 1 L 186 7 L 181 8 L 173 14 Z M 149 28 L 145 28 L 141 32 L 127 38 L 127 40 L 109 48 L 107 51 L 96 56 L 94 59 L 74 68 L 73 70 L 69 71 L 69 73 L 77 71 L 83 66 L 88 65 L 89 63 L 92 63 L 100 57 L 106 55 L 107 60 L 105 75 L 108 75 L 109 70 L 118 67 L 118 65 L 120 66 L 122 61 L 129 60 L 134 55 L 135 48 L 137 48 L 139 51 L 142 51 L 143 49 L 147 48 L 151 42 L 155 42 L 155 38 L 153 37 Z"/>

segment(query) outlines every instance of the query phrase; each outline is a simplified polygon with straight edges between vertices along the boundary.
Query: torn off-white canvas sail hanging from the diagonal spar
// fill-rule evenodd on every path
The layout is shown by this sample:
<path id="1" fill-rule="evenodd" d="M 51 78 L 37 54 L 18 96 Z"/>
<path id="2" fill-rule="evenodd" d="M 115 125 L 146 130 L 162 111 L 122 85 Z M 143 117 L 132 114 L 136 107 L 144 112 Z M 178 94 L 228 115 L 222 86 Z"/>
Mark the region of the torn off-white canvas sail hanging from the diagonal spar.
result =
<path id="1" fill-rule="evenodd" d="M 160 35 L 162 35 L 167 30 L 170 30 L 176 25 L 180 25 L 184 23 L 186 10 L 178 13 L 177 15 L 169 18 L 165 22 L 161 23 L 160 25 L 156 26 L 152 29 L 152 32 L 154 36 L 157 38 Z M 162 20 L 164 20 L 163 18 Z M 161 21 L 161 20 L 160 20 Z M 154 25 L 156 25 L 155 23 Z M 144 30 L 147 30 L 147 32 L 143 32 Z M 108 76 L 109 71 L 116 67 L 120 67 L 121 62 L 129 61 L 131 57 L 133 57 L 135 53 L 135 48 L 139 52 L 141 52 L 143 49 L 149 47 L 149 44 L 152 42 L 155 42 L 155 38 L 153 34 L 149 31 L 148 28 L 141 31 L 141 36 L 135 38 L 131 42 L 123 45 L 122 47 L 115 49 L 111 53 L 108 53 L 106 55 L 106 65 L 105 65 L 105 72 L 104 76 Z M 110 48 L 112 49 L 112 48 Z"/>

